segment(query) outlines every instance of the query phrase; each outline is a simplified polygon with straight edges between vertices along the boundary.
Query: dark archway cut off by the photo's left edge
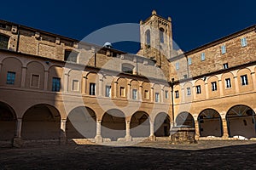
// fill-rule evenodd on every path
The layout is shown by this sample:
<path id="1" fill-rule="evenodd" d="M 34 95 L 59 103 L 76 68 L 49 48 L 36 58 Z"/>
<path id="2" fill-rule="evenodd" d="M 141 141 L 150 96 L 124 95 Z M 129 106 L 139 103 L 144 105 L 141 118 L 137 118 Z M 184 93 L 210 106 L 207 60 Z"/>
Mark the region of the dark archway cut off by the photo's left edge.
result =
<path id="1" fill-rule="evenodd" d="M 11 140 L 15 137 L 15 120 L 15 111 L 0 102 L 0 140 Z"/>

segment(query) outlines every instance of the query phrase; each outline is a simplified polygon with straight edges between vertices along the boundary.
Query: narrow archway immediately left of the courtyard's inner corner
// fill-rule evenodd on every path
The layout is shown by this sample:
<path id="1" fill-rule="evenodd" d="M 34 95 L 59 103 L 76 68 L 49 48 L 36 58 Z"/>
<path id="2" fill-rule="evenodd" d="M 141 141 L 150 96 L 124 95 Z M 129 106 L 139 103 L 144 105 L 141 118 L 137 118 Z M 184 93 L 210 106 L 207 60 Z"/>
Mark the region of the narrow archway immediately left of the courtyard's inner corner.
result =
<path id="1" fill-rule="evenodd" d="M 170 116 L 161 112 L 154 118 L 154 136 L 165 137 L 170 135 Z"/>

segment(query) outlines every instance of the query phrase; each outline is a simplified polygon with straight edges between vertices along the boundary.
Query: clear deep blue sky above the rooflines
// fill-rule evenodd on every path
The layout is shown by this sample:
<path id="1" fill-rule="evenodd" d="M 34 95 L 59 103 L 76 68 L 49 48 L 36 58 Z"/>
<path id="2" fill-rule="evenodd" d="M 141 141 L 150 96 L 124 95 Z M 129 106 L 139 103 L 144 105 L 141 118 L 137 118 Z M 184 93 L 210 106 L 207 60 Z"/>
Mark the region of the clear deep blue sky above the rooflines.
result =
<path id="1" fill-rule="evenodd" d="M 4 3 L 3 3 L 4 2 Z M 155 9 L 172 17 L 173 39 L 183 51 L 256 24 L 256 3 L 251 0 L 73 0 L 3 1 L 0 19 L 82 39 L 104 26 L 139 23 Z M 117 45 L 131 51 L 132 45 Z M 136 47 L 135 47 L 136 48 Z M 133 49 L 134 50 L 134 49 Z"/>

